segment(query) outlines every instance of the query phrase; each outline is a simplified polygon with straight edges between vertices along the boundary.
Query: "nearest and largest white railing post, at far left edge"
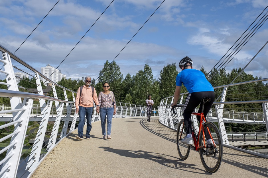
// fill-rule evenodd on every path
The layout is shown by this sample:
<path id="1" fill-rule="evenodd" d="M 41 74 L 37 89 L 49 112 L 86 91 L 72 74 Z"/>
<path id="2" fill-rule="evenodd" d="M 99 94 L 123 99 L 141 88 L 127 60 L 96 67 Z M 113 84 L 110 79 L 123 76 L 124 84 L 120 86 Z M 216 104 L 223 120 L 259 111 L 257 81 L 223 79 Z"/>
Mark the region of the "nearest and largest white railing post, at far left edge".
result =
<path id="1" fill-rule="evenodd" d="M 13 71 L 10 55 L 5 52 L 2 53 L 4 69 L 6 72 L 7 88 L 11 91 L 19 91 L 15 74 Z M 11 97 L 10 104 L 11 109 L 25 108 L 24 111 L 13 112 L 13 121 L 22 120 L 14 124 L 14 132 L 19 132 L 11 137 L 10 144 L 14 144 L 7 150 L 6 157 L 9 157 L 3 164 L 0 172 L 0 177 L 16 177 L 16 173 L 19 167 L 19 160 L 21 158 L 21 152 L 24 145 L 25 135 L 29 123 L 29 117 L 31 114 L 31 108 L 33 106 L 33 100 L 24 98 L 23 102 L 19 97 Z"/>

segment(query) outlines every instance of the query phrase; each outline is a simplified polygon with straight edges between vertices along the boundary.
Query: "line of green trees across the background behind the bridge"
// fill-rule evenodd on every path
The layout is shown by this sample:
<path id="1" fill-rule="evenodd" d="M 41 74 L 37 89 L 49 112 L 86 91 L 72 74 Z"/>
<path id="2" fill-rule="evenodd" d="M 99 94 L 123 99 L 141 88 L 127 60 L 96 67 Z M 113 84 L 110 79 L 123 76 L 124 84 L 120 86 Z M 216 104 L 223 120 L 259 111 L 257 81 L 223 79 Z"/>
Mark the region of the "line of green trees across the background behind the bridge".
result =
<path id="1" fill-rule="evenodd" d="M 239 74 L 242 69 L 232 69 L 229 73 L 225 69 L 212 70 L 211 73 L 205 70 L 204 66 L 200 69 L 212 86 L 222 86 L 230 84 L 234 78 Z M 98 81 L 92 78 L 91 85 L 95 87 L 97 94 L 103 90 L 102 85 L 104 82 L 110 84 L 110 90 L 114 92 L 116 101 L 145 105 L 145 100 L 148 95 L 152 96 L 154 100 L 154 107 L 160 104 L 163 98 L 174 95 L 176 76 L 178 74 L 176 63 L 167 64 L 163 67 L 159 74 L 158 80 L 153 77 L 153 71 L 148 64 L 145 64 L 143 70 L 139 70 L 136 75 L 131 76 L 129 73 L 123 77 L 120 71 L 119 65 L 115 61 L 109 63 L 108 60 L 103 65 L 103 69 L 99 73 Z M 71 78 L 62 78 L 58 82 L 59 85 L 68 88 L 73 91 L 77 91 L 78 88 L 84 85 L 84 77 L 72 80 Z M 261 77 L 253 77 L 252 74 L 247 74 L 244 71 L 235 79 L 233 83 L 250 81 L 261 79 Z M 1 80 L 5 82 L 5 80 Z M 29 88 L 36 88 L 35 78 L 23 78 L 20 80 L 19 88 L 20 91 L 26 91 Z M 45 88 L 44 83 L 41 81 L 42 87 Z M 0 84 L 0 88 L 7 89 L 6 85 Z M 222 93 L 222 88 L 215 89 L 215 95 L 220 96 Z M 56 86 L 56 91 L 58 98 L 64 100 L 64 94 L 62 89 Z M 182 86 L 181 93 L 187 92 L 186 88 Z M 53 97 L 53 92 L 48 93 L 49 96 Z M 68 99 L 72 101 L 72 94 L 67 93 Z M 226 101 L 243 101 L 243 100 L 265 100 L 268 96 L 268 84 L 263 82 L 255 82 L 244 85 L 231 86 L 227 90 Z M 9 103 L 8 98 L 0 98 L 0 103 Z M 37 103 L 38 104 L 38 103 Z M 254 106 L 255 105 L 255 106 Z M 252 112 L 261 112 L 259 104 L 238 104 L 238 105 L 225 105 L 225 108 L 239 109 L 239 111 L 244 111 L 245 109 L 252 109 Z"/>

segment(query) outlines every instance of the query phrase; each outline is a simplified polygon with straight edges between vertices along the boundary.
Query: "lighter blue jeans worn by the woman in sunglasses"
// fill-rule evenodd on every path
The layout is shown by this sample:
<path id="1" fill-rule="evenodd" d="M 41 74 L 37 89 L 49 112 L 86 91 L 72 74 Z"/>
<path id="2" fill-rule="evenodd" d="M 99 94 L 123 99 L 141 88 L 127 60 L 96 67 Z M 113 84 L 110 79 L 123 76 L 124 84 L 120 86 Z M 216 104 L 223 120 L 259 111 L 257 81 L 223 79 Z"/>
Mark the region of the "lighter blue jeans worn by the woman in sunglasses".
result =
<path id="1" fill-rule="evenodd" d="M 101 107 L 100 108 L 102 135 L 106 135 L 106 129 L 105 129 L 106 116 L 107 116 L 107 135 L 111 135 L 113 107 Z"/>

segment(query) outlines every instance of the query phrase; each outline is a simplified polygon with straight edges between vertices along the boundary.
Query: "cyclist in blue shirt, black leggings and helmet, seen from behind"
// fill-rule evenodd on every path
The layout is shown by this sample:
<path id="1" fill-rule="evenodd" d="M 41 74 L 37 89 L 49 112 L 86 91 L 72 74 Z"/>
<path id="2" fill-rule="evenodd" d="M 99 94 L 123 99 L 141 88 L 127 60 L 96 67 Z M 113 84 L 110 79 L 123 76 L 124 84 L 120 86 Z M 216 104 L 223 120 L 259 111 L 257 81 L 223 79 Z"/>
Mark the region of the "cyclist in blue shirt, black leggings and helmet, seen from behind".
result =
<path id="1" fill-rule="evenodd" d="M 192 67 L 193 61 L 188 56 L 184 57 L 179 62 L 179 67 L 182 70 L 176 77 L 176 89 L 174 92 L 174 99 L 171 106 L 176 105 L 180 96 L 180 90 L 182 84 L 186 87 L 189 92 L 186 97 L 186 101 L 183 109 L 183 118 L 186 128 L 186 136 L 181 140 L 183 144 L 193 144 L 192 138 L 192 119 L 191 114 L 194 109 L 200 104 L 202 98 L 211 98 L 210 102 L 206 102 L 204 105 L 204 116 L 208 114 L 214 99 L 214 88 L 206 79 L 204 73 L 193 69 Z M 202 105 L 198 110 L 198 113 L 201 113 Z M 200 116 L 196 116 L 198 121 L 200 122 Z M 205 131 L 205 136 L 207 139 L 207 143 L 211 144 L 212 140 L 208 131 Z"/>

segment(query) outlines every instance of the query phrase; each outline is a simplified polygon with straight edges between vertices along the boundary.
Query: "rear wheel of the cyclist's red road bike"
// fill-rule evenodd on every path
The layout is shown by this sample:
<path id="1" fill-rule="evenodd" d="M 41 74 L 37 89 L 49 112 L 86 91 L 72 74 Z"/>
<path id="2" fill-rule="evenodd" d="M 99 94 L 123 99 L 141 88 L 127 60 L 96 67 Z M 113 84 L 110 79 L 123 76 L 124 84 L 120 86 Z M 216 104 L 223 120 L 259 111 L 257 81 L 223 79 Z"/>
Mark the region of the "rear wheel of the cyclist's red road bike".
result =
<path id="1" fill-rule="evenodd" d="M 199 136 L 199 146 L 201 146 L 199 148 L 199 155 L 204 168 L 209 173 L 214 173 L 218 171 L 222 163 L 222 137 L 217 126 L 214 123 L 206 122 L 204 124 L 204 130 L 208 128 L 210 129 L 210 133 L 215 145 L 207 145 L 207 142 L 205 141 L 206 147 L 204 147 L 204 131 L 201 129 L 201 134 Z"/>

